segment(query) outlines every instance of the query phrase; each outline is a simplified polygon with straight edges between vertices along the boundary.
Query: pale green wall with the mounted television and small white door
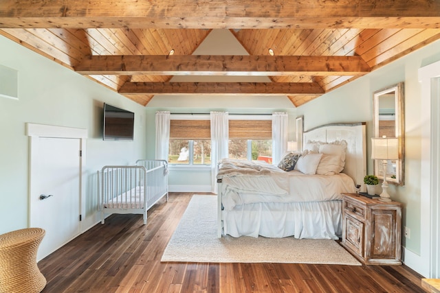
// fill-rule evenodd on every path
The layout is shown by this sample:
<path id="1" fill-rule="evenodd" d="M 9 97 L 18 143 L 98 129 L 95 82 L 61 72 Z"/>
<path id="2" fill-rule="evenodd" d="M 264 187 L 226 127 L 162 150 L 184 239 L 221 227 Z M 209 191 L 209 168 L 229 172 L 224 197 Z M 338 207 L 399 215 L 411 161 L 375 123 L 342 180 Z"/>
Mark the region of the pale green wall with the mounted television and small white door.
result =
<path id="1" fill-rule="evenodd" d="M 87 213 L 94 213 L 96 170 L 145 155 L 145 108 L 3 36 L 0 65 L 19 76 L 19 99 L 0 97 L 0 233 L 28 226 L 28 122 L 89 131 L 85 197 Z M 135 141 L 102 141 L 103 102 L 135 112 Z"/>

